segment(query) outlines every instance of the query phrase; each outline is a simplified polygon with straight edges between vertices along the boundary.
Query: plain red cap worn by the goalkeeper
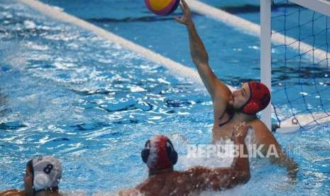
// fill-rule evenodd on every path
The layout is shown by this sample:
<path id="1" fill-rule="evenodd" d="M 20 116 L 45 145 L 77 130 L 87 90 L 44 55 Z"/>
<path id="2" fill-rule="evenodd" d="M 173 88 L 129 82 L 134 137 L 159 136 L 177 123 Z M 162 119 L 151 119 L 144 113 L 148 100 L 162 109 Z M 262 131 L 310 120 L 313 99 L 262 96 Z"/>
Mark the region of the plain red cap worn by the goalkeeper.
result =
<path id="1" fill-rule="evenodd" d="M 270 102 L 270 92 L 268 87 L 260 82 L 248 82 L 250 89 L 250 98 L 248 102 L 241 107 L 244 114 L 257 114 L 258 111 L 265 109 Z"/>

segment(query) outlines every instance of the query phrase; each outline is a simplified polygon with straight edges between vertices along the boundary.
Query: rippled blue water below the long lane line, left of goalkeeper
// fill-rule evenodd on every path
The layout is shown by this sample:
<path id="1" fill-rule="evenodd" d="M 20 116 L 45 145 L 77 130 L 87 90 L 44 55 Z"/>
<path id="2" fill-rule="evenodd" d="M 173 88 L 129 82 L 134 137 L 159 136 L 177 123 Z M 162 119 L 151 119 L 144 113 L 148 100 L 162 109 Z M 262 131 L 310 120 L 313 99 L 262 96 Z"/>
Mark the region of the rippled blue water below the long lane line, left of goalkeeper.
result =
<path id="1" fill-rule="evenodd" d="M 64 190 L 132 185 L 144 177 L 139 151 L 146 138 L 175 135 L 196 121 L 194 136 L 206 126 L 199 120 L 211 124 L 204 91 L 160 65 L 21 4 L 6 1 L 1 9 L 1 42 L 8 45 L 1 50 L 1 159 L 9 161 L 1 161 L 0 190 L 21 187 L 22 163 L 44 153 L 62 159 L 70 175 Z M 192 107 L 204 111 L 188 115 Z"/>

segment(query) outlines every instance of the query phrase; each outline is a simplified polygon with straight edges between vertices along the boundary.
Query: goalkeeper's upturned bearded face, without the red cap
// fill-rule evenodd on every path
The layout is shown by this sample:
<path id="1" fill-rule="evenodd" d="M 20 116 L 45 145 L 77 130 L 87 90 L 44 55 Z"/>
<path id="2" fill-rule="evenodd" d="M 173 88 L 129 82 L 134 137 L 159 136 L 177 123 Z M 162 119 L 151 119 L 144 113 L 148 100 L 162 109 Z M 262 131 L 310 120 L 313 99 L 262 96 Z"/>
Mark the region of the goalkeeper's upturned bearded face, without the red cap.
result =
<path id="1" fill-rule="evenodd" d="M 234 109 L 240 109 L 246 104 L 246 102 L 248 102 L 249 98 L 250 88 L 248 87 L 248 83 L 244 83 L 241 89 L 233 91 L 233 97 L 229 100 L 229 104 L 231 104 Z"/>

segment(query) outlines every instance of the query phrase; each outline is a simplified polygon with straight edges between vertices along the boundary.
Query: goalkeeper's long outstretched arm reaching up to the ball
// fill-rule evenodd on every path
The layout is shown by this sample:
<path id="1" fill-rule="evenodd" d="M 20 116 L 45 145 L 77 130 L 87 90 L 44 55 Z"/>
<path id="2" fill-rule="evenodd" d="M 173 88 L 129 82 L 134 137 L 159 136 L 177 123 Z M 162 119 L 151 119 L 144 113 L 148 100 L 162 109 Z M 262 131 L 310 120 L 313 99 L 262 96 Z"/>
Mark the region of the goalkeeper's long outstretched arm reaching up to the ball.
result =
<path id="1" fill-rule="evenodd" d="M 205 50 L 204 44 L 194 27 L 189 7 L 185 0 L 181 0 L 181 2 L 182 4 L 180 4 L 180 8 L 183 11 L 183 16 L 181 18 L 175 17 L 175 20 L 187 26 L 192 61 L 194 62 L 194 65 L 196 65 L 199 76 L 202 78 L 205 87 L 207 87 L 211 99 L 213 101 L 222 101 L 224 102 L 223 104 L 227 104 L 227 101 L 231 96 L 231 91 L 223 82 L 218 80 L 209 67 L 209 56 L 207 55 L 207 50 Z"/>

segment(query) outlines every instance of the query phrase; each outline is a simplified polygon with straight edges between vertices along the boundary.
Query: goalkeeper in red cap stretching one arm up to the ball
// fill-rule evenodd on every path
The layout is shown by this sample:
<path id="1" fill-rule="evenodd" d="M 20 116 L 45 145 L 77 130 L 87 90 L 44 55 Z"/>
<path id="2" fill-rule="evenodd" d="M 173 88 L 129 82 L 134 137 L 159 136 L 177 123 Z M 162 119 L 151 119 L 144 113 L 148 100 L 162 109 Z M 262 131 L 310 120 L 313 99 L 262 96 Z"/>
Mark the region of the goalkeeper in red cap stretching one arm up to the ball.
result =
<path id="1" fill-rule="evenodd" d="M 270 90 L 260 82 L 246 82 L 240 89 L 231 92 L 209 67 L 209 56 L 194 27 L 189 6 L 185 0 L 181 2 L 183 16 L 175 17 L 175 20 L 187 27 L 192 61 L 211 95 L 214 109 L 214 143 L 229 138 L 233 126 L 246 121 L 254 129 L 255 144 L 263 145 L 261 153 L 266 156 L 268 149 L 275 146 L 278 156 L 270 157 L 271 162 L 285 165 L 290 176 L 295 178 L 297 164 L 282 151 L 271 131 L 256 116 L 258 111 L 265 109 L 270 103 Z"/>

